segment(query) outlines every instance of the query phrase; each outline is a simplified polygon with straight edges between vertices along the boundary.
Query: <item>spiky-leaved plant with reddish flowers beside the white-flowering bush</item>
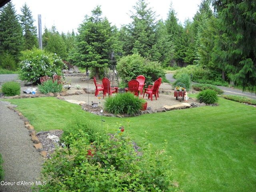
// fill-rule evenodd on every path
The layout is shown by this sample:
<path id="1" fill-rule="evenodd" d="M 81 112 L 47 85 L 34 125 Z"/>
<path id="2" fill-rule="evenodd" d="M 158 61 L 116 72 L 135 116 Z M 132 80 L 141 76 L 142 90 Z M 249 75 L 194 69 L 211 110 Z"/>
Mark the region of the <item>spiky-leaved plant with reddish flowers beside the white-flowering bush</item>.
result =
<path id="1" fill-rule="evenodd" d="M 38 90 L 40 92 L 47 93 L 58 93 L 61 92 L 63 88 L 63 83 L 61 81 L 61 76 L 54 75 L 52 78 L 44 76 L 40 78 L 41 84 L 38 84 Z"/>

